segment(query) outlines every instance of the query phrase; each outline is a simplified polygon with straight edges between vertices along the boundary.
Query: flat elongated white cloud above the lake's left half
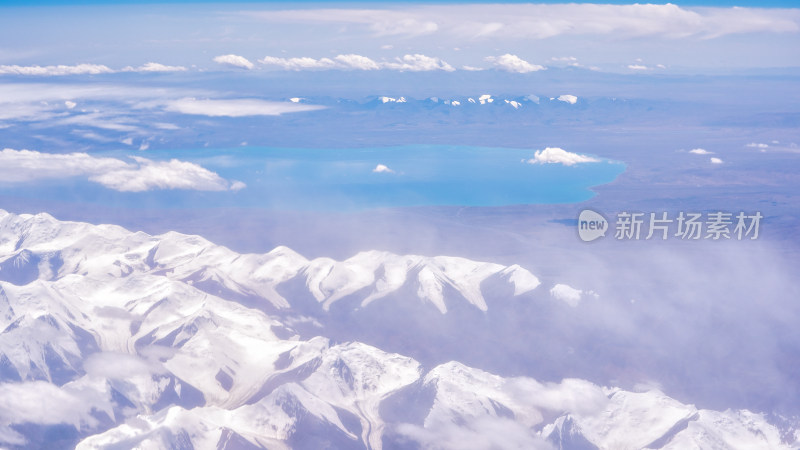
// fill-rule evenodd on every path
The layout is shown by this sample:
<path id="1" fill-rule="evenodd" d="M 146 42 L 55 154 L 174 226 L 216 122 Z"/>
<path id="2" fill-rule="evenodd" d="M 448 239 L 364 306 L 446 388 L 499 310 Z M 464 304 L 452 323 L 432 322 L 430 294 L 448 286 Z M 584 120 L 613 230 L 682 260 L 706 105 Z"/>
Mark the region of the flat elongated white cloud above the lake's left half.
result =
<path id="1" fill-rule="evenodd" d="M 323 106 L 258 99 L 199 100 L 182 98 L 167 102 L 167 111 L 211 117 L 278 116 L 284 113 L 314 111 Z"/>

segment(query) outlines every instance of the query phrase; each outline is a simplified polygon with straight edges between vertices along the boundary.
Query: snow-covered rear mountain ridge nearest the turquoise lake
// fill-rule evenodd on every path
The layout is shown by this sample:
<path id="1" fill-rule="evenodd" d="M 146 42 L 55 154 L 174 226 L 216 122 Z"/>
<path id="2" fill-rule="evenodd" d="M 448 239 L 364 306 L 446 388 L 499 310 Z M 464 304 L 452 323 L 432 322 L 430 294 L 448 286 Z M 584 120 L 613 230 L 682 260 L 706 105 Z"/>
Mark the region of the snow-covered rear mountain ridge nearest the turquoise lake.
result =
<path id="1" fill-rule="evenodd" d="M 345 261 L 307 260 L 286 247 L 263 255 L 238 254 L 199 236 L 166 233 L 149 236 L 110 225 L 59 222 L 47 214 L 0 212 L 0 279 L 24 284 L 70 274 L 96 280 L 151 274 L 180 281 L 215 295 L 257 299 L 269 310 L 290 308 L 277 288 L 300 279 L 324 309 L 358 294 L 366 306 L 404 286 L 447 312 L 443 290 L 454 289 L 480 310 L 487 304 L 481 284 L 499 277 L 525 294 L 539 280 L 519 266 L 458 257 L 359 253 Z"/>

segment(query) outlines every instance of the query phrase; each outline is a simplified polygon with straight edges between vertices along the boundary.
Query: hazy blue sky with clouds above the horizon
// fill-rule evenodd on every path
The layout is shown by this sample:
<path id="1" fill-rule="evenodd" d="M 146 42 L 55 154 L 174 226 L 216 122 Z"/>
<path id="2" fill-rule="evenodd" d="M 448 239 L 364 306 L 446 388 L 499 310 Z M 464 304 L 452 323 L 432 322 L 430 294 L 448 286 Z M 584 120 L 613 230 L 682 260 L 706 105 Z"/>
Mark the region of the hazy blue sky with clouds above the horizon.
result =
<path id="1" fill-rule="evenodd" d="M 215 58 L 236 55 L 248 62 L 233 64 L 234 68 L 256 70 L 532 71 L 569 66 L 685 73 L 793 67 L 800 61 L 800 9 L 709 7 L 719 5 L 710 2 L 703 7 L 451 2 L 250 2 L 192 7 L 139 2 L 41 4 L 45 6 L 19 7 L 0 15 L 0 40 L 8 44 L 0 49 L 0 65 L 86 63 L 118 70 L 156 62 L 219 70 L 231 64 L 220 64 Z M 686 51 L 689 47 L 692 50 Z M 352 57 L 342 62 L 336 59 L 341 55 L 365 57 L 375 64 L 363 59 L 354 63 Z M 409 60 L 408 55 L 428 59 Z M 519 60 L 504 62 L 499 59 L 503 55 Z M 295 64 L 298 61 L 302 64 Z M 368 65 L 361 64 L 364 61 Z"/>

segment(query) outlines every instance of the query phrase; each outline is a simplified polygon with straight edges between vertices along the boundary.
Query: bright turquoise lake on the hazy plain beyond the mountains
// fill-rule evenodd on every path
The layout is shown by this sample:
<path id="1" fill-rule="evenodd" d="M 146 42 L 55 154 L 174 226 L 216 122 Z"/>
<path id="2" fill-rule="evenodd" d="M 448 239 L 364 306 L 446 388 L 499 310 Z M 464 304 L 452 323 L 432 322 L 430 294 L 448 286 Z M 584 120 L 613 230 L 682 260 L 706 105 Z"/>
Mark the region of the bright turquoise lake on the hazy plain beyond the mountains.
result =
<path id="1" fill-rule="evenodd" d="M 403 206 L 574 203 L 592 186 L 613 181 L 625 165 L 611 160 L 529 164 L 534 149 L 402 146 L 356 149 L 237 147 L 148 150 L 153 160 L 190 161 L 228 180 L 239 191 L 116 192 L 86 180 L 70 186 L 39 183 L 17 194 L 128 207 L 259 207 L 273 210 L 351 211 Z M 96 156 L 125 159 L 130 152 Z M 391 172 L 375 172 L 378 165 Z M 63 181 L 62 181 L 63 183 Z"/>

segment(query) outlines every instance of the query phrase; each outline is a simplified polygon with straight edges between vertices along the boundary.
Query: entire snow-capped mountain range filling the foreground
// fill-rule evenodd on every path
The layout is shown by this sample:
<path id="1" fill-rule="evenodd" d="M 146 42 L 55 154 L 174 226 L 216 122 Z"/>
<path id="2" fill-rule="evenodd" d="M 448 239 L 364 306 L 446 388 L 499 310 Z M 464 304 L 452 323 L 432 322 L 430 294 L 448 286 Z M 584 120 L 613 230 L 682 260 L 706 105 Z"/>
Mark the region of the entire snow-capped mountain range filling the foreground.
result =
<path id="1" fill-rule="evenodd" d="M 0 212 L 0 446 L 797 448 L 796 428 L 763 414 L 430 362 L 379 348 L 369 329 L 513 302 L 571 308 L 540 285 L 458 257 L 239 254 Z"/>

